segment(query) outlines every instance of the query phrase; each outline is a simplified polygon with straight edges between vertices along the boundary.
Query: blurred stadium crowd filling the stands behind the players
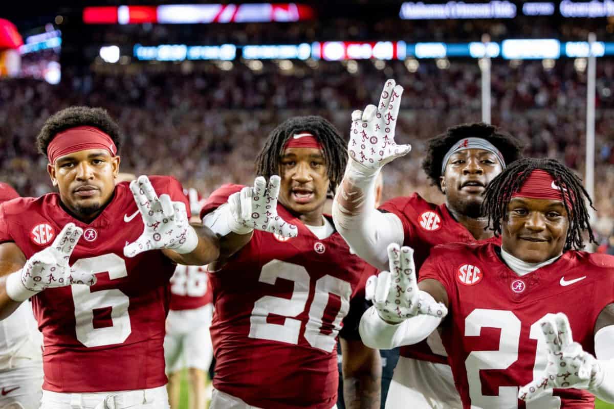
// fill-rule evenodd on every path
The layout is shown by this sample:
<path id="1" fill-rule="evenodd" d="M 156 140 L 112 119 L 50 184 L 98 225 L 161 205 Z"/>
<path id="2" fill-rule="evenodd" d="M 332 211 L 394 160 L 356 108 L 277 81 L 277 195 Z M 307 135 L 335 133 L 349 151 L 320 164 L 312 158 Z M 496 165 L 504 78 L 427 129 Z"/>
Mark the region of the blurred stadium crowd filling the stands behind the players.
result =
<path id="1" fill-rule="evenodd" d="M 526 155 L 561 159 L 581 176 L 585 63 L 497 60 L 492 66 L 492 122 L 521 138 Z M 281 121 L 322 115 L 344 135 L 351 111 L 376 103 L 384 80 L 395 78 L 405 88 L 397 140 L 413 150 L 386 166 L 384 196 L 418 191 L 441 202 L 420 170 L 425 142 L 448 126 L 481 118 L 481 73 L 473 60 L 247 64 L 115 64 L 85 76 L 64 72 L 56 86 L 2 82 L 0 180 L 23 195 L 50 191 L 36 134 L 50 114 L 91 105 L 106 108 L 120 124 L 124 172 L 174 175 L 206 195 L 222 183 L 251 182 L 255 154 Z M 607 235 L 614 226 L 614 61 L 600 59 L 597 78 L 596 226 Z"/>

